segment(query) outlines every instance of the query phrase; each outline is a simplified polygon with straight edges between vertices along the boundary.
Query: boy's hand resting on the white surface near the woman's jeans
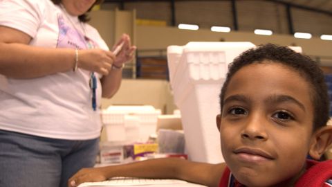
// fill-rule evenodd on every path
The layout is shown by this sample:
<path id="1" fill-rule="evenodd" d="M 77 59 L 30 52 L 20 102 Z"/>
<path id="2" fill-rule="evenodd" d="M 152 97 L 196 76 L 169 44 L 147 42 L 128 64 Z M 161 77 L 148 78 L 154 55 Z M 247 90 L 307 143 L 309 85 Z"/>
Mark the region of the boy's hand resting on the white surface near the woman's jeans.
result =
<path id="1" fill-rule="evenodd" d="M 75 187 L 84 182 L 105 181 L 103 168 L 83 168 L 68 179 L 68 187 Z"/>

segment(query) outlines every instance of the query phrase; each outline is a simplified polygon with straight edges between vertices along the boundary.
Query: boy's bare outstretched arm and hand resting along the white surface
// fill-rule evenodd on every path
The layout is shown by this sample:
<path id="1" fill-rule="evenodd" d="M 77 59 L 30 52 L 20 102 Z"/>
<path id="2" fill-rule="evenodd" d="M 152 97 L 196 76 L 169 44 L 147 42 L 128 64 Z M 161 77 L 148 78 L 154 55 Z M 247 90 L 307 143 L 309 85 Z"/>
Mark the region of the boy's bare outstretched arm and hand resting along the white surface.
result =
<path id="1" fill-rule="evenodd" d="M 182 179 L 205 186 L 218 186 L 224 168 L 224 163 L 198 163 L 174 158 L 151 159 L 118 166 L 84 168 L 68 180 L 68 186 L 78 186 L 86 181 L 104 181 L 111 177 Z"/>

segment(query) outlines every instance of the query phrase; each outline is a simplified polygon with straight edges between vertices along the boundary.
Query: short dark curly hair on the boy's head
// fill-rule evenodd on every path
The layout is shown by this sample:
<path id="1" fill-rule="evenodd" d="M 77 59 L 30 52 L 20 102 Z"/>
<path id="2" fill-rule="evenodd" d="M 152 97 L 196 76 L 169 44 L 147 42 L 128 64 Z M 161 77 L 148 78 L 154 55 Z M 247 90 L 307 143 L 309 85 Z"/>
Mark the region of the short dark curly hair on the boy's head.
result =
<path id="1" fill-rule="evenodd" d="M 324 73 L 317 62 L 310 57 L 296 53 L 286 46 L 277 46 L 275 44 L 265 44 L 251 48 L 235 58 L 230 64 L 226 80 L 221 88 L 219 96 L 221 112 L 223 111 L 223 99 L 225 91 L 233 75 L 243 66 L 249 64 L 262 63 L 268 60 L 271 63 L 280 63 L 297 71 L 311 85 L 311 100 L 314 107 L 313 130 L 326 125 L 329 121 L 329 95 L 327 92 Z"/>

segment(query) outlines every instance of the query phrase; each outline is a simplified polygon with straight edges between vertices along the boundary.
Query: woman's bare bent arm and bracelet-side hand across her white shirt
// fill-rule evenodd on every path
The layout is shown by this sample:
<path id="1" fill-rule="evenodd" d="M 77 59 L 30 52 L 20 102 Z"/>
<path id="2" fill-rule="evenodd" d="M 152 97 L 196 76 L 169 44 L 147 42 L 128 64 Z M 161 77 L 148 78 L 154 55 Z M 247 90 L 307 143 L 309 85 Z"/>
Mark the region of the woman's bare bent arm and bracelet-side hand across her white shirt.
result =
<path id="1" fill-rule="evenodd" d="M 75 50 L 29 46 L 31 37 L 0 26 L 0 73 L 11 78 L 37 78 L 73 71 Z M 78 67 L 108 75 L 115 56 L 101 49 L 80 50 Z"/>

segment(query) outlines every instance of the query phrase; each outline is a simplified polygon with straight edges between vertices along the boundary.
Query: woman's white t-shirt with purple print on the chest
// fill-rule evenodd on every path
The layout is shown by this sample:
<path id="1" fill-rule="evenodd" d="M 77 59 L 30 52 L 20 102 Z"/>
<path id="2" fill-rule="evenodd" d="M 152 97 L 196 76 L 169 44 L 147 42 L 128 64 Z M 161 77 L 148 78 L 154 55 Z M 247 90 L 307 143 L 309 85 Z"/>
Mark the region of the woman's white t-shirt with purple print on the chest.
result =
<path id="1" fill-rule="evenodd" d="M 95 28 L 80 25 L 77 17 L 50 0 L 0 0 L 0 10 L 0 25 L 30 35 L 31 46 L 89 48 L 86 35 L 92 46 L 108 50 Z M 0 130 L 55 139 L 97 138 L 102 123 L 100 110 L 92 109 L 90 76 L 91 72 L 83 69 L 30 79 L 0 74 Z M 100 99 L 98 79 L 98 108 Z"/>

